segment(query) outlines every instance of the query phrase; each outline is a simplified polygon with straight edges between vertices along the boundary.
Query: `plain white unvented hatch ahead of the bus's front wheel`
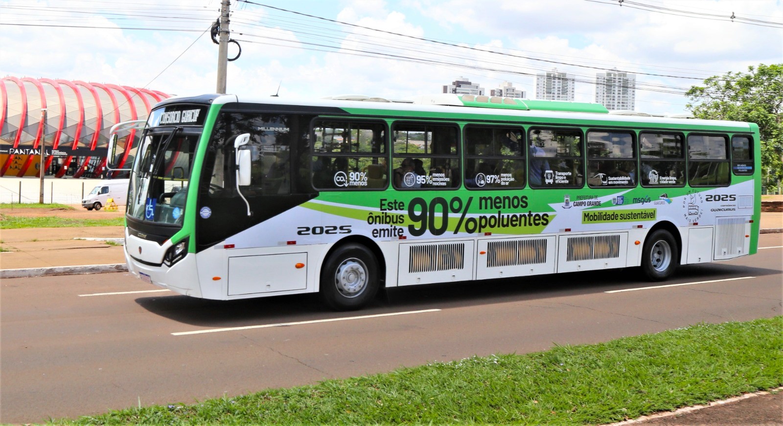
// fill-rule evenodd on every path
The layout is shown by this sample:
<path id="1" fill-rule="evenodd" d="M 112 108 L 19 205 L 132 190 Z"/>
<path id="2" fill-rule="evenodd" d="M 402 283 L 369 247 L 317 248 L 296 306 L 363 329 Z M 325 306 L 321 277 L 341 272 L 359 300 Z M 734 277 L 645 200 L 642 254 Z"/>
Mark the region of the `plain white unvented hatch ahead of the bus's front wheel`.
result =
<path id="1" fill-rule="evenodd" d="M 307 253 L 229 258 L 229 296 L 305 288 Z"/>

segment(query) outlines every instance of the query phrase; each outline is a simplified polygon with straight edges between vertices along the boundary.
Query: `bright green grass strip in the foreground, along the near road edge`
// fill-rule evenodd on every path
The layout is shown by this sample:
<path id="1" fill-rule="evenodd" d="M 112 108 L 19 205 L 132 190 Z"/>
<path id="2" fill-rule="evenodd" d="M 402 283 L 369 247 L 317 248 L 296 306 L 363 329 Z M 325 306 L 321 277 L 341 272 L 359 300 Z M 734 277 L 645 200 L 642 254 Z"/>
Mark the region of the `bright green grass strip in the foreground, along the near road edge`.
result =
<path id="1" fill-rule="evenodd" d="M 783 384 L 783 316 L 52 424 L 604 424 Z"/>

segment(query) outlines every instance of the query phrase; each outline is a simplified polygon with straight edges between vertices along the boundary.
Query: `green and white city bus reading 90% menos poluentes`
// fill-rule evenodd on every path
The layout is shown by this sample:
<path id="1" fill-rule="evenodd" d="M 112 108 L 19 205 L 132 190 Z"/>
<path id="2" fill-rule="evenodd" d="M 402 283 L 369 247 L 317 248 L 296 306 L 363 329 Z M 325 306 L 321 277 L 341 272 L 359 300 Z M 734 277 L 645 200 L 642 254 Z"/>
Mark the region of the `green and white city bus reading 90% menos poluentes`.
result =
<path id="1" fill-rule="evenodd" d="M 197 298 L 359 309 L 382 287 L 626 267 L 665 280 L 758 247 L 752 123 L 489 96 L 204 95 L 158 103 L 134 151 L 128 268 Z"/>

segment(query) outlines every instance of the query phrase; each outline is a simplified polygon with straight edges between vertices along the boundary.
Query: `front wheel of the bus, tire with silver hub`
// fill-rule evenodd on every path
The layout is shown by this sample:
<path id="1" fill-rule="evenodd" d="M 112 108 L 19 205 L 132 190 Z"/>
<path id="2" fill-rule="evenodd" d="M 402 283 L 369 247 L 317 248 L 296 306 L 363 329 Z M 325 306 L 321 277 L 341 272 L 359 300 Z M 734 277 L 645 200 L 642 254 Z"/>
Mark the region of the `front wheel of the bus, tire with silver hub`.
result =
<path id="1" fill-rule="evenodd" d="M 378 292 L 378 262 L 361 244 L 338 247 L 321 269 L 321 300 L 338 311 L 360 309 Z"/>

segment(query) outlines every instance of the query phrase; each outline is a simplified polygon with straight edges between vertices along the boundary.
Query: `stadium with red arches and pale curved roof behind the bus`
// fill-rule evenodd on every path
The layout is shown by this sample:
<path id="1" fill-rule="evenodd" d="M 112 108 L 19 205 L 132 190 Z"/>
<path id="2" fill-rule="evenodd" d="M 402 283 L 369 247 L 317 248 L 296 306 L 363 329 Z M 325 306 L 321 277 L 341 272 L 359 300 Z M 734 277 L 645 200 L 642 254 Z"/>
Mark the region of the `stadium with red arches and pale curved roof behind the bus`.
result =
<path id="1" fill-rule="evenodd" d="M 146 119 L 155 103 L 170 97 L 146 88 L 49 78 L 4 77 L 0 83 L 0 176 L 38 175 L 45 140 L 48 173 L 97 177 L 106 166 L 110 128 Z M 125 136 L 126 146 L 134 137 Z"/>

